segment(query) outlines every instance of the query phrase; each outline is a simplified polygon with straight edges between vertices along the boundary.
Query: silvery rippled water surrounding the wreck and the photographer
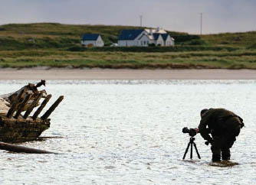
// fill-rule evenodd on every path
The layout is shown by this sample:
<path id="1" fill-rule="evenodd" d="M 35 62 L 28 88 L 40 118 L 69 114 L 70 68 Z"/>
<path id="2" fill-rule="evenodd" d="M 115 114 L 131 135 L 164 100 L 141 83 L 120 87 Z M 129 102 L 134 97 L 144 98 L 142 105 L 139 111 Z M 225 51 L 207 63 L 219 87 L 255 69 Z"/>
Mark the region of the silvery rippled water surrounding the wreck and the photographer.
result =
<path id="1" fill-rule="evenodd" d="M 1 94 L 28 81 L 0 81 Z M 31 82 L 30 82 L 31 83 Z M 36 82 L 32 82 L 36 83 Z M 21 145 L 60 154 L 0 151 L 0 184 L 256 184 L 256 81 L 48 81 L 64 101 L 51 115 L 45 141 Z M 246 128 L 231 148 L 238 165 L 212 166 L 200 135 L 202 159 L 187 154 L 187 126 L 204 108 L 241 115 Z"/>

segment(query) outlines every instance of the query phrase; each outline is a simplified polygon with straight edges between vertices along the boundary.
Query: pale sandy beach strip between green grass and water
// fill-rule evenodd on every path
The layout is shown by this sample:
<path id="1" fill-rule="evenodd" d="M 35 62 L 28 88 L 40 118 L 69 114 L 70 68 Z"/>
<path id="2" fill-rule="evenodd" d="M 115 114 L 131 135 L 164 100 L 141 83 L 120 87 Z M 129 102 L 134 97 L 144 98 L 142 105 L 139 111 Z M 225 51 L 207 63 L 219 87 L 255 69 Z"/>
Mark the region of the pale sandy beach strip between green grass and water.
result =
<path id="1" fill-rule="evenodd" d="M 0 80 L 256 80 L 256 70 L 0 69 Z"/>

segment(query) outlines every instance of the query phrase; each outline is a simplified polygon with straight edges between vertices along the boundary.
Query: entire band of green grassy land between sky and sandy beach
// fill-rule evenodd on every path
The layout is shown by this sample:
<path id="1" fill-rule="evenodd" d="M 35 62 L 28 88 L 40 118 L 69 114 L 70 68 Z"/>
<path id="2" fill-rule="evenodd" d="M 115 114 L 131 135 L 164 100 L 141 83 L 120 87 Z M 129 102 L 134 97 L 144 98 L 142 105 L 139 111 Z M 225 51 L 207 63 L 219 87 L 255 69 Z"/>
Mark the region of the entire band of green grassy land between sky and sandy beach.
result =
<path id="1" fill-rule="evenodd" d="M 227 68 L 256 69 L 256 31 L 191 35 L 168 31 L 176 47 L 80 46 L 84 33 L 97 33 L 106 45 L 131 26 L 57 23 L 0 26 L 0 67 Z"/>

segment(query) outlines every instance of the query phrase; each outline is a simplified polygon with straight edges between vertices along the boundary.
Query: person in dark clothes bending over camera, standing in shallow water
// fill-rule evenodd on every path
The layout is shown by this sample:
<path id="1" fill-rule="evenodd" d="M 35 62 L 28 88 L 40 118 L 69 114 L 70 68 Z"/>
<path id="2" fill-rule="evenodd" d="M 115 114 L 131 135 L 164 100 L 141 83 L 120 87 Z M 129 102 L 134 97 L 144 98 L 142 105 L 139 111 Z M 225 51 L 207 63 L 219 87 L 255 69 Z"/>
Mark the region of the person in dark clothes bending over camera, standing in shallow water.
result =
<path id="1" fill-rule="evenodd" d="M 243 127 L 243 119 L 231 111 L 202 109 L 199 133 L 207 140 L 205 144 L 212 144 L 212 161 L 230 159 L 230 148 Z"/>

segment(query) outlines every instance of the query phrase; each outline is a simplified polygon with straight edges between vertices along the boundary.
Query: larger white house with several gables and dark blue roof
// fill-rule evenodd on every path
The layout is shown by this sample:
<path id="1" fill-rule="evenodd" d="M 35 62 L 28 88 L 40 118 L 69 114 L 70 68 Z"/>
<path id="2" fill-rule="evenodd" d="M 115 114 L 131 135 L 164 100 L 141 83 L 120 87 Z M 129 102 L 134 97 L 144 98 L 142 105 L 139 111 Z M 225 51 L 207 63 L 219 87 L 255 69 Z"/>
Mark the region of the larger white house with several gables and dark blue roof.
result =
<path id="1" fill-rule="evenodd" d="M 174 46 L 174 39 L 160 29 L 123 30 L 118 37 L 120 47 Z"/>

